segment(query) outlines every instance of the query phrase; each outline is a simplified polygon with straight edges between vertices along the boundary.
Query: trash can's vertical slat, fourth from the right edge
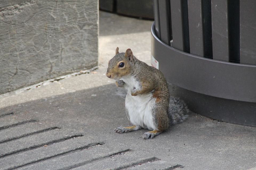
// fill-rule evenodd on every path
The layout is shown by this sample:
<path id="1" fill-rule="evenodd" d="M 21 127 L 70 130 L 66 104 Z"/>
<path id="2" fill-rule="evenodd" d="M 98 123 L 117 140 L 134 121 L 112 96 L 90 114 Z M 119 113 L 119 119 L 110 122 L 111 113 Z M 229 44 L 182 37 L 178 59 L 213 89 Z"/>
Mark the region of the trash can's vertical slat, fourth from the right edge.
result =
<path id="1" fill-rule="evenodd" d="M 171 26 L 173 33 L 173 47 L 184 51 L 184 33 L 183 33 L 183 12 L 182 12 L 182 0 L 172 1 L 171 6 Z"/>

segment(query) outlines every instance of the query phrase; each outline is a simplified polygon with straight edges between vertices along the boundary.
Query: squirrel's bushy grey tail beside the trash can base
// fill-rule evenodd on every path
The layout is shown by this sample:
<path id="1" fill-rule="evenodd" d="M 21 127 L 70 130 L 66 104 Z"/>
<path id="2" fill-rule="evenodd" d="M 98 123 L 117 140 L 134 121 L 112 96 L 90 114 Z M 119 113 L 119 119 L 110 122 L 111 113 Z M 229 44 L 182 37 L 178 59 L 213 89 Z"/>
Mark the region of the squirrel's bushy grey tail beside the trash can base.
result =
<path id="1" fill-rule="evenodd" d="M 183 122 L 189 116 L 189 109 L 184 101 L 170 96 L 169 108 L 167 111 L 169 125 L 175 125 Z"/>

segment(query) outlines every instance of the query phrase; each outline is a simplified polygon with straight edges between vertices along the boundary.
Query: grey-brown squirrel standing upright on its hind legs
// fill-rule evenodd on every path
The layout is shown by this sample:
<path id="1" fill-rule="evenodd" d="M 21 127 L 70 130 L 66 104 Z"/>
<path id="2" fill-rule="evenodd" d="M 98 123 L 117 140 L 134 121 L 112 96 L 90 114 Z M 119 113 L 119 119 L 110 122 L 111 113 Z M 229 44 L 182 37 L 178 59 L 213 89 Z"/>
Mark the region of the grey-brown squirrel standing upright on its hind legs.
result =
<path id="1" fill-rule="evenodd" d="M 120 126 L 115 132 L 145 128 L 151 131 L 144 133 L 143 138 L 152 139 L 170 125 L 184 121 L 189 109 L 182 100 L 169 95 L 162 72 L 138 60 L 131 49 L 125 53 L 119 53 L 118 50 L 117 47 L 116 55 L 109 61 L 106 76 L 116 80 L 117 87 L 127 90 L 126 115 L 134 126 Z"/>

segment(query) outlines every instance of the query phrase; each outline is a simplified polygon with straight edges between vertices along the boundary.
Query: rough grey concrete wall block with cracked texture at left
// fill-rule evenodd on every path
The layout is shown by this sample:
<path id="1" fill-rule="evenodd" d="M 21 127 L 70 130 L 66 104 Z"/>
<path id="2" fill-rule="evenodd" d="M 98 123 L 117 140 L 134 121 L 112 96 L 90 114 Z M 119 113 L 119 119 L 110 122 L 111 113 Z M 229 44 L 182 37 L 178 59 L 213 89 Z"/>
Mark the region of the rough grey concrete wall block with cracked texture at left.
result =
<path id="1" fill-rule="evenodd" d="M 97 0 L 0 0 L 0 94 L 98 61 Z"/>

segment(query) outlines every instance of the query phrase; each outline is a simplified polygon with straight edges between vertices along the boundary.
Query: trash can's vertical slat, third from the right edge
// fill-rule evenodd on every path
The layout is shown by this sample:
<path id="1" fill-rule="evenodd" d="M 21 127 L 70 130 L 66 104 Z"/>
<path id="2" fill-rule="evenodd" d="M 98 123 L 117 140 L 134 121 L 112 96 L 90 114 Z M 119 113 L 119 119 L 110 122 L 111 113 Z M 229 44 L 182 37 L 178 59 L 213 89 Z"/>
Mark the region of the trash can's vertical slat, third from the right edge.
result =
<path id="1" fill-rule="evenodd" d="M 188 0 L 190 54 L 204 57 L 201 0 Z"/>

